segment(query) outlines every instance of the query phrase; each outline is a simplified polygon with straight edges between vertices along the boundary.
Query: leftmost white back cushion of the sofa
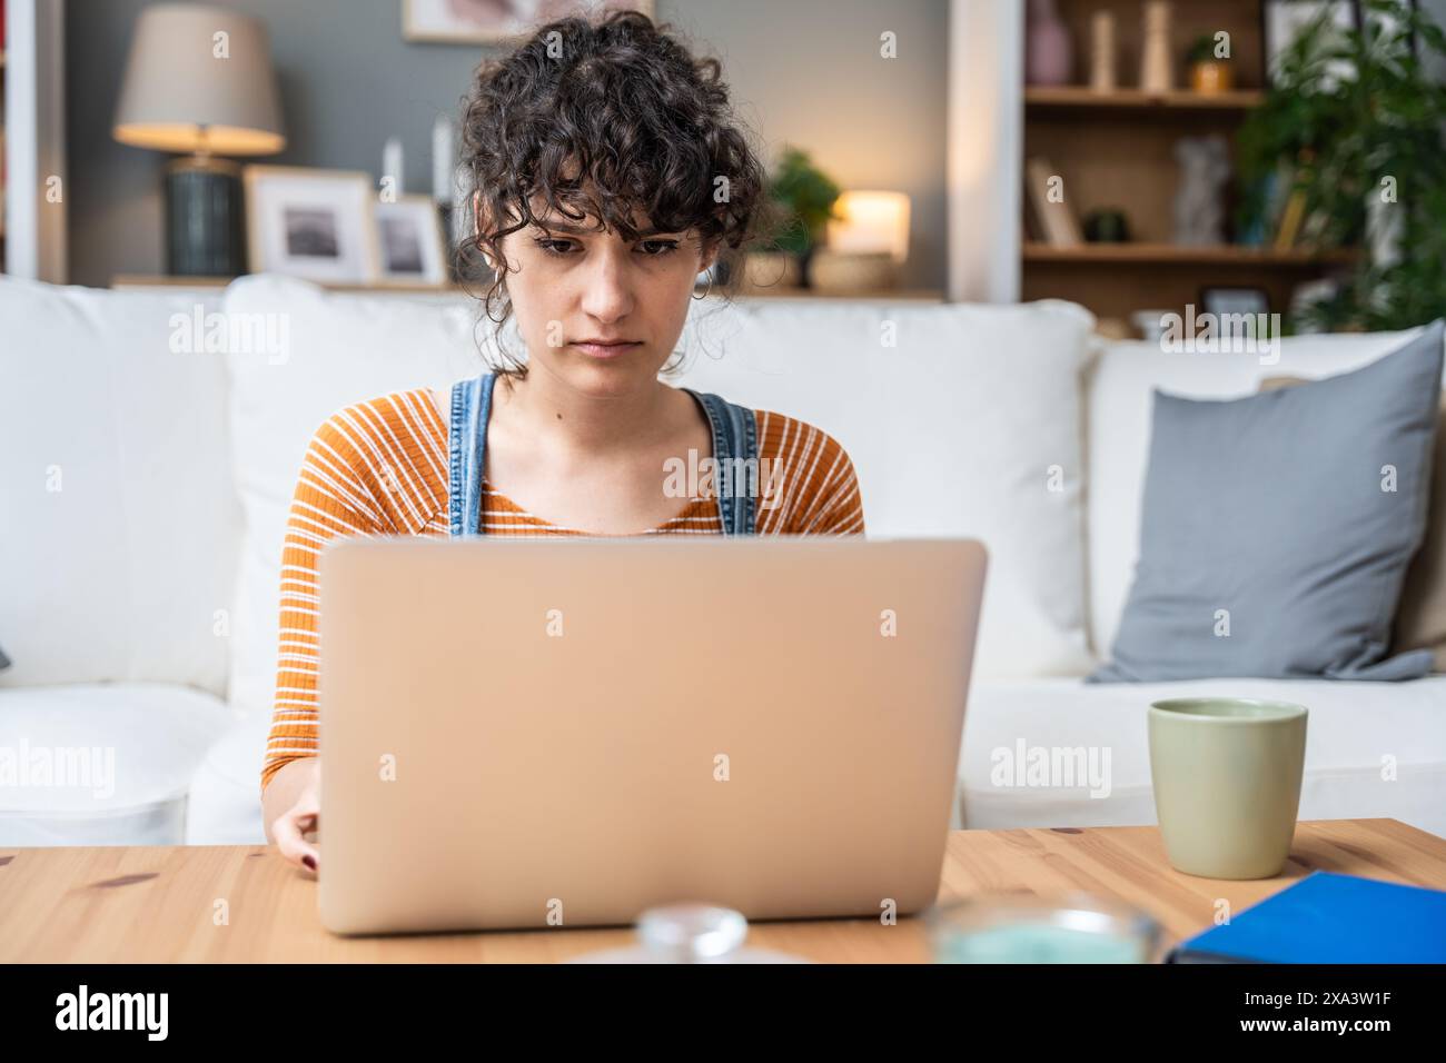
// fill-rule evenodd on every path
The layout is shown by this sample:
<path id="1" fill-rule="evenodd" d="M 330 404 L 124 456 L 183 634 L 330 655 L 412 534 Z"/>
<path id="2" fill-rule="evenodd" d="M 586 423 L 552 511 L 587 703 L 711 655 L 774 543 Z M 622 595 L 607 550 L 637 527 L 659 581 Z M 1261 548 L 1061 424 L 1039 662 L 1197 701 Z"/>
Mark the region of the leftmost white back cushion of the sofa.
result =
<path id="1" fill-rule="evenodd" d="M 0 278 L 0 687 L 224 690 L 240 513 L 195 314 Z"/>

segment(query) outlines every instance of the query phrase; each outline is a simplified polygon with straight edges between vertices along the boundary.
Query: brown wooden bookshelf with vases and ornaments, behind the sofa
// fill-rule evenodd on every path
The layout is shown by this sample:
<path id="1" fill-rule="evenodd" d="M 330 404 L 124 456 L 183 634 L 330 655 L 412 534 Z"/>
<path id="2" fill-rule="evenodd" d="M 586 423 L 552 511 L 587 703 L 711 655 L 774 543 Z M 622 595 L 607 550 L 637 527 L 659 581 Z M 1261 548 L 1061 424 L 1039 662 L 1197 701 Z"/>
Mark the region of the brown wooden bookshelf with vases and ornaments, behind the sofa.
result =
<path id="1" fill-rule="evenodd" d="M 1300 282 L 1355 260 L 1351 250 L 1173 243 L 1180 178 L 1176 142 L 1220 135 L 1229 145 L 1233 171 L 1235 135 L 1265 98 L 1262 0 L 1174 0 L 1174 88 L 1165 93 L 1138 88 L 1141 0 L 1057 0 L 1057 9 L 1070 33 L 1079 84 L 1024 87 L 1024 161 L 1048 161 L 1050 171 L 1063 178 L 1066 204 L 1080 224 L 1092 210 L 1122 210 L 1129 243 L 1053 246 L 1044 240 L 1025 195 L 1019 263 L 1024 299 L 1071 299 L 1102 321 L 1122 323 L 1139 309 L 1183 312 L 1187 302 L 1199 304 L 1203 288 L 1261 288 L 1270 308 L 1285 312 Z M 1087 85 L 1090 19 L 1100 10 L 1115 16 L 1118 88 L 1108 93 Z M 1233 84 L 1229 91 L 1199 94 L 1189 87 L 1184 56 L 1193 40 L 1218 30 L 1231 35 Z M 1226 239 L 1233 237 L 1235 207 L 1232 179 Z"/>

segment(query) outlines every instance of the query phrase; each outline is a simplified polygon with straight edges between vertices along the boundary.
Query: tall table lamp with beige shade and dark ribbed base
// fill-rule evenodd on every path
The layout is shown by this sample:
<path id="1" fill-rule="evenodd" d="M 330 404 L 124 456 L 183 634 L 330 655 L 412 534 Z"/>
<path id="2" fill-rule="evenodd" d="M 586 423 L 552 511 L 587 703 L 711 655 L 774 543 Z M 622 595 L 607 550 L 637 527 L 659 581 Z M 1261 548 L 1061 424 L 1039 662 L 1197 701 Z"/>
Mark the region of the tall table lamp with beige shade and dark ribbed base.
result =
<path id="1" fill-rule="evenodd" d="M 218 156 L 286 146 L 266 27 L 221 7 L 146 7 L 111 135 L 123 145 L 187 152 L 166 165 L 168 270 L 246 272 L 240 166 Z"/>

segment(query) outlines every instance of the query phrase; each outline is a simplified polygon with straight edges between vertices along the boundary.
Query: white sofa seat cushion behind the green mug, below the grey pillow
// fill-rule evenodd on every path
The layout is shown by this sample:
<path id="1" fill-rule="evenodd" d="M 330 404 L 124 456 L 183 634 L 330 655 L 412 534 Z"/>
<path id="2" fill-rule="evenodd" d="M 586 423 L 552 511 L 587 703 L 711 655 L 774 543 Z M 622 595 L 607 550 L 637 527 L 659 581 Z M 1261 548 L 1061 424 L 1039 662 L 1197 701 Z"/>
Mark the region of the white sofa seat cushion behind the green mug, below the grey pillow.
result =
<path id="1" fill-rule="evenodd" d="M 1411 683 L 1190 680 L 1084 684 L 1027 680 L 976 684 L 964 713 L 963 821 L 970 829 L 1105 827 L 1157 821 L 1145 713 L 1167 697 L 1259 697 L 1306 706 L 1301 820 L 1390 817 L 1446 837 L 1446 675 Z M 1108 794 L 1090 785 L 1030 785 L 1011 771 L 1021 745 L 1093 752 Z M 1076 755 L 1076 762 L 1077 762 Z M 1108 758 L 1108 759 L 1106 759 Z M 1096 787 L 1096 791 L 1103 790 Z"/>

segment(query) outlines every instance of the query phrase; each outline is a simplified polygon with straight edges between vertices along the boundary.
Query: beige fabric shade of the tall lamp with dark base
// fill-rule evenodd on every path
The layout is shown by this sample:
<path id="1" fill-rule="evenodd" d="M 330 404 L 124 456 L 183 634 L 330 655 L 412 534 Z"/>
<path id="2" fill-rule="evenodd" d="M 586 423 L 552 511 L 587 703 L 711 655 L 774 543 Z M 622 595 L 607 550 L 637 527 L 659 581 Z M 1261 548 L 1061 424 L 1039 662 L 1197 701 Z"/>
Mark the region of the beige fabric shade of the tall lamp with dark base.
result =
<path id="1" fill-rule="evenodd" d="M 266 27 L 223 7 L 142 10 L 111 132 L 163 152 L 279 152 L 286 137 Z"/>

